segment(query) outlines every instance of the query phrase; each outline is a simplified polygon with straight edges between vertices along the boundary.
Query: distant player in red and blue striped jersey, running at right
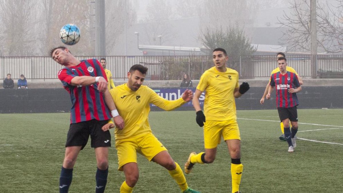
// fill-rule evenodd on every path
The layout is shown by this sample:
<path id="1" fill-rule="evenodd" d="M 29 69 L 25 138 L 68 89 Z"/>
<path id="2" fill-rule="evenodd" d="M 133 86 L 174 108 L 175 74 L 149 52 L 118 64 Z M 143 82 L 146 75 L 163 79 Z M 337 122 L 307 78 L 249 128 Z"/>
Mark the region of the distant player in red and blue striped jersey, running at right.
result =
<path id="1" fill-rule="evenodd" d="M 268 100 L 271 98 L 271 92 L 276 87 L 277 112 L 284 125 L 288 152 L 293 152 L 296 147 L 295 134 L 298 132 L 297 105 L 299 105 L 299 101 L 296 93 L 301 91 L 301 86 L 296 74 L 287 71 L 287 60 L 285 57 L 278 58 L 277 65 L 280 71 L 271 75 L 270 87 L 266 98 Z M 289 128 L 289 121 L 292 124 L 292 132 Z"/>

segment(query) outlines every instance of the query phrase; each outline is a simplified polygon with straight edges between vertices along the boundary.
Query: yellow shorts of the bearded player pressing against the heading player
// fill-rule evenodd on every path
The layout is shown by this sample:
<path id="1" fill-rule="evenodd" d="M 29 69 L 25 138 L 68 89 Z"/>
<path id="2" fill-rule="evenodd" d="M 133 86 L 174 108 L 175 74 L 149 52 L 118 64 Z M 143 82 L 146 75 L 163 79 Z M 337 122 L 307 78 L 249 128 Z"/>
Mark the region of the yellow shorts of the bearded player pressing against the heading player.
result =
<path id="1" fill-rule="evenodd" d="M 122 166 L 127 163 L 137 163 L 137 152 L 151 161 L 159 152 L 167 151 L 167 148 L 153 134 L 128 139 L 116 139 L 116 149 L 118 151 L 119 171 L 122 171 Z"/>

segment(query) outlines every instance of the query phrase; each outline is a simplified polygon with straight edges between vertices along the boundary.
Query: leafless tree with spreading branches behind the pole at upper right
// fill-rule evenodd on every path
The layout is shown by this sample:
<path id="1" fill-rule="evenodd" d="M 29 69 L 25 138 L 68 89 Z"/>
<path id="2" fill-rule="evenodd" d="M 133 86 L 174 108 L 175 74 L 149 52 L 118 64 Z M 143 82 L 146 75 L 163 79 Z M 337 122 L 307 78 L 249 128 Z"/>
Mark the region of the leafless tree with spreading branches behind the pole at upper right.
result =
<path id="1" fill-rule="evenodd" d="M 278 18 L 279 23 L 287 27 L 280 44 L 286 45 L 290 51 L 309 52 L 310 2 L 294 0 L 290 8 L 293 13 L 284 12 Z M 343 53 L 343 0 L 319 1 L 316 12 L 318 52 Z"/>

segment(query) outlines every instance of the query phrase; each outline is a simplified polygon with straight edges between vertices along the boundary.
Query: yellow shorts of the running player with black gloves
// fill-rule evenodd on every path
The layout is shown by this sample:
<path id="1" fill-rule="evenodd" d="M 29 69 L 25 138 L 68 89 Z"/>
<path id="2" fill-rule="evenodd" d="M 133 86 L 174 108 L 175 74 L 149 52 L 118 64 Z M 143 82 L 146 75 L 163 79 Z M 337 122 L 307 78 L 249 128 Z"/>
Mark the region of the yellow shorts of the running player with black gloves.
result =
<path id="1" fill-rule="evenodd" d="M 227 121 L 206 120 L 204 123 L 204 144 L 205 149 L 213 149 L 220 144 L 222 139 L 239 139 L 239 128 L 236 119 Z"/>

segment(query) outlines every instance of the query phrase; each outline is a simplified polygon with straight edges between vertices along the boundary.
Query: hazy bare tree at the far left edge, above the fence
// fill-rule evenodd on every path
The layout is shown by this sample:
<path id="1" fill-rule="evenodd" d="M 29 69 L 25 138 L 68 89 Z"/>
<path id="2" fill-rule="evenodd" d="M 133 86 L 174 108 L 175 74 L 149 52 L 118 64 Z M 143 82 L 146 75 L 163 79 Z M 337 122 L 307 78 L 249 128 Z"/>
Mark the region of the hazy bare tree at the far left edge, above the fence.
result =
<path id="1" fill-rule="evenodd" d="M 36 41 L 33 36 L 33 7 L 36 1 L 0 1 L 1 53 L 5 56 L 27 56 L 33 54 L 31 45 Z"/>

